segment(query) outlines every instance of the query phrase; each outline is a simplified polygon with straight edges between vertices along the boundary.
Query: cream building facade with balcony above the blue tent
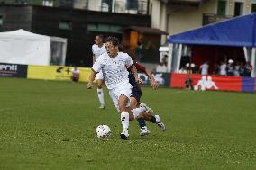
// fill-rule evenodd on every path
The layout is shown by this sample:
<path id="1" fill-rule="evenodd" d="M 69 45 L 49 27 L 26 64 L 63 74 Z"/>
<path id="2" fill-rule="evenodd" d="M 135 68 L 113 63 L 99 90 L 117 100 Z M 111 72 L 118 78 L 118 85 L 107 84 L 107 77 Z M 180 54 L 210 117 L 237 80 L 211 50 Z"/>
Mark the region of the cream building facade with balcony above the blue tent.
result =
<path id="1" fill-rule="evenodd" d="M 151 4 L 151 27 L 170 35 L 256 12 L 256 0 L 151 0 Z"/>

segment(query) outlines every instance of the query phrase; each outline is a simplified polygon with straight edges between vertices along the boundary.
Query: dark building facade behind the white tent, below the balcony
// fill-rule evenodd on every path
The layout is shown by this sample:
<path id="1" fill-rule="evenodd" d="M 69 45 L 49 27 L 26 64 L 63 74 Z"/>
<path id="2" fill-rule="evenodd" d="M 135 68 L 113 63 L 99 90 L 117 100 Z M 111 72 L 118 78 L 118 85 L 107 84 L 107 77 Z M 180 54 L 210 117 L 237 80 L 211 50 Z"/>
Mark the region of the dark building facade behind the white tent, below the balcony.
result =
<path id="1" fill-rule="evenodd" d="M 67 66 L 92 65 L 91 46 L 97 34 L 113 35 L 122 40 L 121 30 L 127 26 L 151 27 L 151 16 L 147 14 L 98 12 L 48 5 L 0 4 L 0 31 L 24 29 L 67 38 Z"/>

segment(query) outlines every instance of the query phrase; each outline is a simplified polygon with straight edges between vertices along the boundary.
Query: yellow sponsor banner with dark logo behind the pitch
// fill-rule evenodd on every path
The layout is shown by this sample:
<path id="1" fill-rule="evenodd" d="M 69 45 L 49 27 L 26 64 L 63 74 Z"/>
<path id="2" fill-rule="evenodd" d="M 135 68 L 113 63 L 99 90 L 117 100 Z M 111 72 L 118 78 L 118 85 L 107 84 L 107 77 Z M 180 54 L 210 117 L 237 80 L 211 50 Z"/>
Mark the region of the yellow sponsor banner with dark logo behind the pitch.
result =
<path id="1" fill-rule="evenodd" d="M 71 70 L 74 67 L 62 66 L 28 66 L 28 78 L 45 80 L 70 80 Z M 80 70 L 80 82 L 87 82 L 91 69 L 78 67 Z"/>

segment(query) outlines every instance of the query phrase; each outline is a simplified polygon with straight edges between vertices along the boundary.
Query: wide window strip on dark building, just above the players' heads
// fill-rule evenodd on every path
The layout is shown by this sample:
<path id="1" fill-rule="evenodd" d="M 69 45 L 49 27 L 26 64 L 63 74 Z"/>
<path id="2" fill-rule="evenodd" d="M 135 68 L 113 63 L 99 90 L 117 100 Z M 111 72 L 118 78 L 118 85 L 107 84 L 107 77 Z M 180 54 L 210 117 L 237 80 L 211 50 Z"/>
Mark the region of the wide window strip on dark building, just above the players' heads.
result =
<path id="1" fill-rule="evenodd" d="M 110 25 L 103 23 L 89 23 L 87 24 L 87 31 L 100 31 L 100 32 L 112 32 L 121 33 L 122 27 L 119 25 Z"/>

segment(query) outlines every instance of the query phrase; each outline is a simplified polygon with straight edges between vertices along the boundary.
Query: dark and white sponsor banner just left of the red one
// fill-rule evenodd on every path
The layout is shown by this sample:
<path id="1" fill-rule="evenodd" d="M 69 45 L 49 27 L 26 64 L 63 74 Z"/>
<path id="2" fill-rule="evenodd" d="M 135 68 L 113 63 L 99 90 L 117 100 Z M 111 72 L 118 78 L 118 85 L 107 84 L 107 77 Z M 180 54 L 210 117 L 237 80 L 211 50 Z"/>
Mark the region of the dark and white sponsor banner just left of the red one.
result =
<path id="1" fill-rule="evenodd" d="M 170 73 L 152 73 L 160 86 L 169 86 Z M 138 73 L 138 76 L 143 80 L 143 85 L 151 85 L 149 77 L 144 73 Z"/>

